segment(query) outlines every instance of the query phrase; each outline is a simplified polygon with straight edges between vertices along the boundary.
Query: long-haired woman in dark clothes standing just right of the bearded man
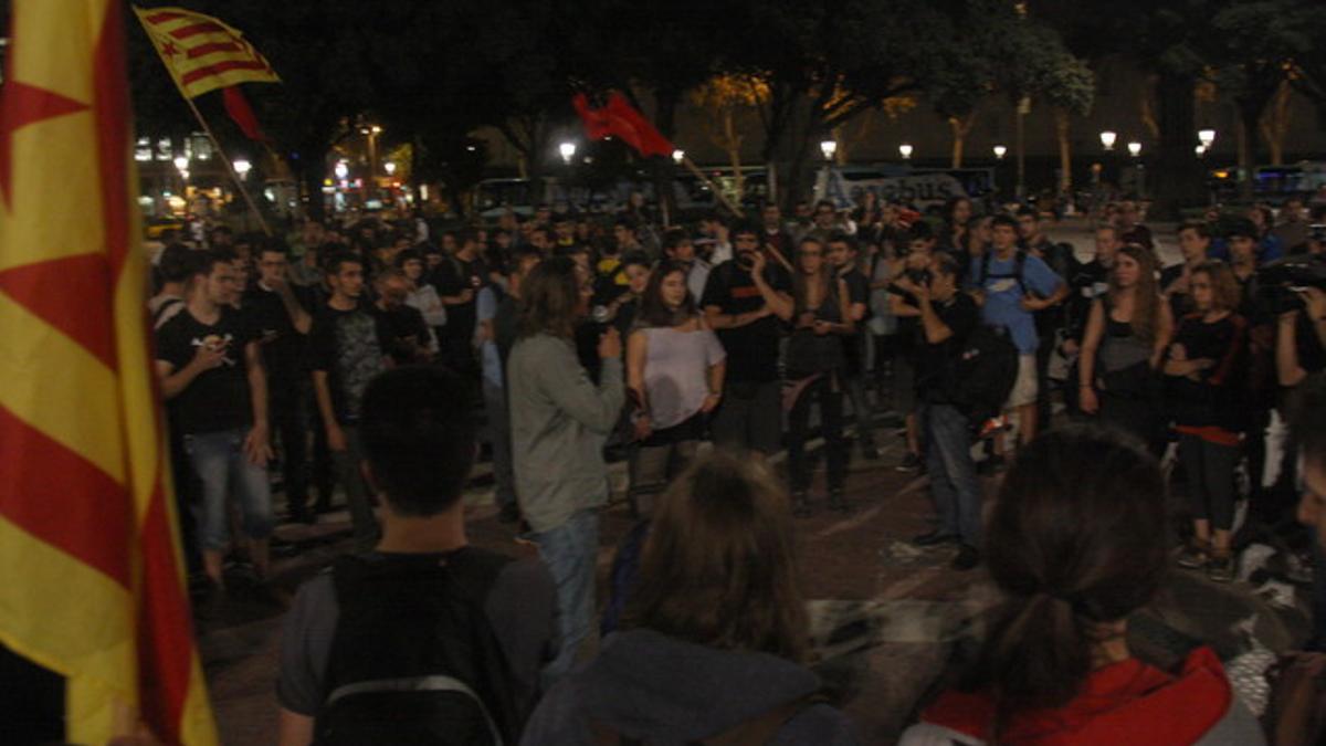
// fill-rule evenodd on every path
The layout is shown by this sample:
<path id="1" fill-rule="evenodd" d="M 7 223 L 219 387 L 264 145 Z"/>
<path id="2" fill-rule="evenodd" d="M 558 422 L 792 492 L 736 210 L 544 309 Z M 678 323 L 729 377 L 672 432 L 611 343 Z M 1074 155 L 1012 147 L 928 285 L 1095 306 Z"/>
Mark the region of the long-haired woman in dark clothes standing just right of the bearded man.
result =
<path id="1" fill-rule="evenodd" d="M 797 246 L 797 273 L 792 280 L 793 331 L 788 340 L 788 471 L 797 515 L 810 511 L 810 466 L 806 434 L 810 405 L 819 405 L 821 430 L 827 455 L 829 507 L 847 510 L 843 482 L 847 447 L 842 437 L 843 366 L 842 337 L 851 335 L 847 284 L 825 256 L 825 246 L 813 238 Z M 786 402 L 785 402 L 786 404 Z"/>

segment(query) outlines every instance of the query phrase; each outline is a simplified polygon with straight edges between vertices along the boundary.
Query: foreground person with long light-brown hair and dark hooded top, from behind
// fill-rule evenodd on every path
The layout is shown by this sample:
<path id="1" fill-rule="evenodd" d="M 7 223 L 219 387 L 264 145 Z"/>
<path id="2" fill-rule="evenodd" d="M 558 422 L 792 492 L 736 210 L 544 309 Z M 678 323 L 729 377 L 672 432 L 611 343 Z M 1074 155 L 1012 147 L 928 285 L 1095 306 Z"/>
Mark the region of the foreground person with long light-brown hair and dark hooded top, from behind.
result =
<path id="1" fill-rule="evenodd" d="M 788 494 L 715 450 L 662 495 L 623 631 L 544 696 L 522 743 L 855 743 L 817 704 Z"/>

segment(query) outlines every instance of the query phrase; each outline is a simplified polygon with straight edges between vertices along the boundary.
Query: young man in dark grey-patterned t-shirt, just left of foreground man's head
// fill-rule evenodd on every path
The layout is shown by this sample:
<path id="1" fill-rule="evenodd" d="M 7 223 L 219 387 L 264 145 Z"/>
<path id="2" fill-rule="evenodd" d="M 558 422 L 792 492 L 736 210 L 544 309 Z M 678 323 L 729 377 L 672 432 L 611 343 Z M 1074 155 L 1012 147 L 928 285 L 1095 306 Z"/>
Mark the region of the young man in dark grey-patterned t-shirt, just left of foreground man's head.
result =
<path id="1" fill-rule="evenodd" d="M 332 297 L 313 319 L 310 333 L 313 392 L 326 430 L 337 478 L 345 487 L 355 544 L 369 550 L 378 539 L 378 520 L 363 483 L 359 445 L 359 401 L 374 376 L 387 369 L 378 324 L 361 308 L 363 263 L 353 254 L 333 255 L 325 268 Z"/>

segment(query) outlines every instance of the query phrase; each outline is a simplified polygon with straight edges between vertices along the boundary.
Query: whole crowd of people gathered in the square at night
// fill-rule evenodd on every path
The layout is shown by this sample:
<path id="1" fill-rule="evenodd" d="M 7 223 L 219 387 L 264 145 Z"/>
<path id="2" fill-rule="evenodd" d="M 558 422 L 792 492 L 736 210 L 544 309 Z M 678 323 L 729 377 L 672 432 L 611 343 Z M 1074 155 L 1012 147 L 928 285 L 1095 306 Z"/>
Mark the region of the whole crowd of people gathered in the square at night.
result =
<path id="1" fill-rule="evenodd" d="M 149 308 L 191 568 L 212 603 L 228 552 L 264 589 L 272 485 L 294 522 L 343 495 L 357 552 L 286 619 L 282 743 L 432 742 L 455 723 L 455 742 L 850 743 L 805 668 L 793 526 L 850 511 L 853 454 L 880 459 L 898 429 L 892 466 L 926 473 L 936 512 L 914 542 L 956 544 L 955 568 L 987 564 L 1009 596 L 904 742 L 1109 733 L 1196 698 L 1203 717 L 1172 733 L 1256 743 L 1209 650 L 1171 676 L 1123 641 L 1175 548 L 1167 453 L 1192 516 L 1176 561 L 1212 580 L 1235 575 L 1241 498 L 1282 523 L 1306 479 L 1299 518 L 1326 515 L 1326 450 L 1297 459 L 1321 423 L 1280 435 L 1326 368 L 1326 291 L 1265 267 L 1310 268 L 1322 220 L 1209 218 L 1179 228 L 1171 267 L 1131 202 L 1107 207 L 1086 261 L 1034 208 L 965 198 L 937 220 L 870 199 L 693 230 L 541 207 L 440 234 L 168 236 Z M 985 378 L 1006 385 L 973 393 Z M 499 518 L 537 559 L 467 546 L 479 443 Z M 597 599 L 615 458 L 640 523 Z M 983 499 L 980 475 L 1005 470 Z M 617 631 L 583 664 L 602 605 Z M 1120 714 L 1097 722 L 1083 688 Z"/>

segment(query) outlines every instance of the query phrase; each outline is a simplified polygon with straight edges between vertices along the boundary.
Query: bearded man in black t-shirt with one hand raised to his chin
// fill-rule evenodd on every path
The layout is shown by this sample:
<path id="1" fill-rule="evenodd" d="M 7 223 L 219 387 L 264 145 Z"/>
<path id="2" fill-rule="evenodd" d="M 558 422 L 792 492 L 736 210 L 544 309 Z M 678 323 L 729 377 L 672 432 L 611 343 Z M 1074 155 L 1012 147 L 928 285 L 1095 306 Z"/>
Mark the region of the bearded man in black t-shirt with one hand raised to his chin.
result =
<path id="1" fill-rule="evenodd" d="M 770 455 L 782 445 L 778 320 L 792 319 L 792 279 L 770 264 L 753 226 L 732 231 L 735 259 L 709 272 L 700 305 L 728 353 L 713 441 Z"/>

